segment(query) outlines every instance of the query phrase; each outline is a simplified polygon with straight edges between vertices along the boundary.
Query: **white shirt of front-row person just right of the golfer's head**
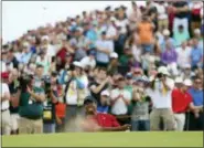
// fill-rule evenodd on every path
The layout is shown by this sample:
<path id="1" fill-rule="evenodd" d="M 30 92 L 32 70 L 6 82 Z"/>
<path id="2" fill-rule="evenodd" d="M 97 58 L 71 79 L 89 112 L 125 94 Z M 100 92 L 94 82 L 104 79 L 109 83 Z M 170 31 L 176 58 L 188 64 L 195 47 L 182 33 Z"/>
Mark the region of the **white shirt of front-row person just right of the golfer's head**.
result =
<path id="1" fill-rule="evenodd" d="M 125 91 L 125 89 L 120 91 L 118 88 L 111 91 L 110 99 L 115 99 L 120 94 L 124 95 L 125 99 L 128 99 L 128 101 L 131 99 L 131 94 L 128 91 Z M 127 112 L 128 112 L 128 108 L 126 103 L 122 101 L 122 98 L 118 98 L 111 107 L 111 114 L 114 115 L 125 115 L 127 114 Z"/>

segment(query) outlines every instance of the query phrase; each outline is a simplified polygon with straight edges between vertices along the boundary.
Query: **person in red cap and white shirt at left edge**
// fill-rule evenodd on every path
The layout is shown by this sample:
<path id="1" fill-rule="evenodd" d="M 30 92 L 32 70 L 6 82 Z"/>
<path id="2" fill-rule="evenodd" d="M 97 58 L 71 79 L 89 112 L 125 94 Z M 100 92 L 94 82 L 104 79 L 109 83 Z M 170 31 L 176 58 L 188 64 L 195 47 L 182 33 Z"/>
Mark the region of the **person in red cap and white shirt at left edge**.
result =
<path id="1" fill-rule="evenodd" d="M 1 131 L 3 135 L 10 135 L 11 133 L 11 116 L 9 110 L 10 92 L 6 80 L 9 78 L 8 73 L 1 73 Z"/>

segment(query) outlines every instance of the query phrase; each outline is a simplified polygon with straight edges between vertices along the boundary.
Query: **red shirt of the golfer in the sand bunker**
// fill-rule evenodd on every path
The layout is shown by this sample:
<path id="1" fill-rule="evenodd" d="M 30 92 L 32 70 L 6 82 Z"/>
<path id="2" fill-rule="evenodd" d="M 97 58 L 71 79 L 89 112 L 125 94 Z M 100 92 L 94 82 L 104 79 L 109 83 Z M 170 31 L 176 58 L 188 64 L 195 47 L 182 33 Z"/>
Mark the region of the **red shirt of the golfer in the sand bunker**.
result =
<path id="1" fill-rule="evenodd" d="M 95 116 L 97 124 L 101 127 L 119 127 L 116 117 L 110 114 L 97 113 Z"/>

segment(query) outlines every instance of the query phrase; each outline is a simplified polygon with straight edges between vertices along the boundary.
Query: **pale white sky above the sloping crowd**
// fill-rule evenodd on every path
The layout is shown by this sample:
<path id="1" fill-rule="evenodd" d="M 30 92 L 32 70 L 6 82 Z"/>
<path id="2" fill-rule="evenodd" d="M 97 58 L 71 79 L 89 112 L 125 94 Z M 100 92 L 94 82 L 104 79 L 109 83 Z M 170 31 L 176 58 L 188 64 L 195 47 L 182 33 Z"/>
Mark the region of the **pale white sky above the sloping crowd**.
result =
<path id="1" fill-rule="evenodd" d="M 137 1 L 144 4 L 144 1 Z M 46 23 L 66 20 L 85 11 L 103 10 L 107 6 L 116 8 L 130 1 L 2 1 L 2 40 L 3 43 L 15 40 L 28 30 Z"/>

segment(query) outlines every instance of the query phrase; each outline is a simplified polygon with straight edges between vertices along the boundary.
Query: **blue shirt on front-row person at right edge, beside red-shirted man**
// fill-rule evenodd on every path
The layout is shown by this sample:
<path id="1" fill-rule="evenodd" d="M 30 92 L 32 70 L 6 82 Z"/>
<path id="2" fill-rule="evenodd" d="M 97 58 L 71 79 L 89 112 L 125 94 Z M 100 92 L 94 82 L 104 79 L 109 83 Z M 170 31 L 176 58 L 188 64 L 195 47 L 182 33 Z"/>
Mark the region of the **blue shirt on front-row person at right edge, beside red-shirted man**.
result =
<path id="1" fill-rule="evenodd" d="M 192 95 L 193 103 L 195 106 L 203 105 L 203 89 L 190 88 L 189 93 Z"/>

